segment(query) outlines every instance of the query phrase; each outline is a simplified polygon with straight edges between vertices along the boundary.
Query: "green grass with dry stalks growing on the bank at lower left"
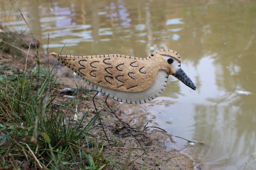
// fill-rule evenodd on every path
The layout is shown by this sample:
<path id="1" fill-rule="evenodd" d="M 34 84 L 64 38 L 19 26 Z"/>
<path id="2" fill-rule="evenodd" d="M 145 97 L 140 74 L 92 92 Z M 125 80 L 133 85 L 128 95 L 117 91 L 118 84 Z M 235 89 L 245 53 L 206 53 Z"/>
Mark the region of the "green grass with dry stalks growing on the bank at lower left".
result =
<path id="1" fill-rule="evenodd" d="M 84 110 L 79 122 L 72 121 L 77 98 L 67 105 L 53 103 L 58 83 L 51 72 L 44 68 L 40 74 L 26 69 L 17 74 L 0 71 L 0 167 L 100 169 L 108 165 L 102 157 L 104 144 L 92 135 L 97 125 L 86 120 L 88 112 Z"/>

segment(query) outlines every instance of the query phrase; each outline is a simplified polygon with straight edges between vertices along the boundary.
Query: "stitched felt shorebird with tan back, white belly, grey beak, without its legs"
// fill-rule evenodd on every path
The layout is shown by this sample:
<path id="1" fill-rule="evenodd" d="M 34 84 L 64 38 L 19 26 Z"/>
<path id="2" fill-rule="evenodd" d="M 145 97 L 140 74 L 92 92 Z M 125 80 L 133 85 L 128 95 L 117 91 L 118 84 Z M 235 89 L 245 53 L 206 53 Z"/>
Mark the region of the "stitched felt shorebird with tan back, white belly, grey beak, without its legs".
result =
<path id="1" fill-rule="evenodd" d="M 180 67 L 180 55 L 169 49 L 153 52 L 147 58 L 120 54 L 51 55 L 98 92 L 120 102 L 141 104 L 155 99 L 164 91 L 169 75 L 196 90 Z"/>

